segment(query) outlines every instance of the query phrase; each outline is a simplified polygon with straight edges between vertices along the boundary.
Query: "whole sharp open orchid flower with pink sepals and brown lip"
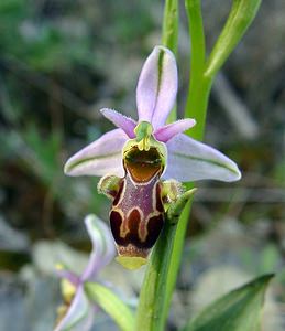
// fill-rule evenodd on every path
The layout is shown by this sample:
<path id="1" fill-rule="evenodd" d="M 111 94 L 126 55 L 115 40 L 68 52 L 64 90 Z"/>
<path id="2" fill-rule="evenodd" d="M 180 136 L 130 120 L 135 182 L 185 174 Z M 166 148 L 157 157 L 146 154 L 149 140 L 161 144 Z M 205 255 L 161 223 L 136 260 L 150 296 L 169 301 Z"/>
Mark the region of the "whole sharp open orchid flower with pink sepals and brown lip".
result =
<path id="1" fill-rule="evenodd" d="M 101 109 L 118 128 L 78 151 L 65 164 L 68 175 L 103 177 L 98 189 L 113 201 L 111 229 L 123 265 L 129 264 L 129 257 L 132 263 L 135 257 L 138 265 L 145 263 L 163 228 L 165 206 L 180 195 L 178 182 L 231 182 L 241 178 L 232 160 L 183 134 L 195 126 L 195 119 L 165 125 L 177 88 L 173 53 L 164 46 L 154 47 L 136 87 L 139 120 Z M 161 179 L 167 181 L 163 183 Z"/>

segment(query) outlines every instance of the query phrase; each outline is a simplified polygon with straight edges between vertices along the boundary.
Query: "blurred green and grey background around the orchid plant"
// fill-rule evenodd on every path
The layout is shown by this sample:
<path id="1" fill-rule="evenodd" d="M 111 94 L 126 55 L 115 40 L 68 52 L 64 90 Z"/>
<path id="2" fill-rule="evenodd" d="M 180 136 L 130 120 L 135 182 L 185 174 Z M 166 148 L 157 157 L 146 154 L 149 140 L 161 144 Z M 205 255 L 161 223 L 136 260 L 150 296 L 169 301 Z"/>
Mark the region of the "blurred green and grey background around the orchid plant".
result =
<path id="1" fill-rule="evenodd" d="M 226 3 L 227 2 L 227 3 Z M 108 221 L 96 178 L 67 178 L 66 159 L 112 128 L 110 107 L 136 118 L 141 66 L 161 43 L 163 1 L 0 1 L 0 331 L 48 331 L 61 305 L 54 265 L 80 269 L 84 216 Z M 207 47 L 231 1 L 204 0 Z M 180 6 L 178 113 L 189 38 Z M 240 166 L 233 184 L 200 182 L 168 330 L 263 273 L 277 273 L 263 330 L 285 328 L 285 2 L 264 1 L 217 77 L 205 140 Z M 116 263 L 101 279 L 132 300 L 144 270 Z M 117 330 L 98 312 L 94 330 Z"/>

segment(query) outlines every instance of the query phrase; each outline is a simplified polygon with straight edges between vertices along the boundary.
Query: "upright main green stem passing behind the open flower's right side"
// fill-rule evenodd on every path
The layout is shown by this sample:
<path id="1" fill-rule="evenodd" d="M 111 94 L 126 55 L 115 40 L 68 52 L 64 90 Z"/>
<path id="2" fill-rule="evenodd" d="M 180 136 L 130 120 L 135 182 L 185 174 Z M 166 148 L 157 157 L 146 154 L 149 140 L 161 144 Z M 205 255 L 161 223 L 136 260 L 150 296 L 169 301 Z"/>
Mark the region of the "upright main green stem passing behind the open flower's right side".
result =
<path id="1" fill-rule="evenodd" d="M 189 30 L 191 35 L 191 75 L 185 117 L 194 117 L 197 120 L 197 125 L 195 126 L 196 129 L 191 129 L 191 131 L 187 134 L 191 134 L 191 137 L 201 140 L 204 137 L 211 79 L 204 77 L 206 51 L 200 1 L 186 0 L 185 4 L 189 19 Z M 190 188 L 193 188 L 193 185 L 188 184 L 187 189 Z M 182 213 L 182 216 L 178 221 L 177 229 L 173 237 L 173 246 L 167 275 L 169 279 L 165 281 L 166 284 L 171 284 L 171 287 L 167 289 L 171 295 L 174 290 L 180 266 L 185 234 L 187 231 L 187 224 L 190 214 L 190 206 L 191 202 L 188 203 L 184 209 L 184 212 Z M 171 299 L 171 295 L 167 297 L 168 300 Z"/>

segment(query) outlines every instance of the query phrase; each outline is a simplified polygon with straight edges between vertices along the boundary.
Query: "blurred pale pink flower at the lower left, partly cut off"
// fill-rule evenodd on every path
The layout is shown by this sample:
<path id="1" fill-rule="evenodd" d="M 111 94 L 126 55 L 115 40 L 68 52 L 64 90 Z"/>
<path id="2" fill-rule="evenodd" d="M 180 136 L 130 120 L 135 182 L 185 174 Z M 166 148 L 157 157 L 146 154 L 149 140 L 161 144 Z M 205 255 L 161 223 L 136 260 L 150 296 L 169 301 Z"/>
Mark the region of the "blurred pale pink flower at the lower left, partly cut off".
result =
<path id="1" fill-rule="evenodd" d="M 114 245 L 108 226 L 95 215 L 85 218 L 85 225 L 92 242 L 89 261 L 81 276 L 63 268 L 57 268 L 58 276 L 63 279 L 62 288 L 65 306 L 61 307 L 61 320 L 54 331 L 89 330 L 97 307 L 91 303 L 85 291 L 85 284 L 94 281 L 98 273 L 108 265 L 114 256 Z"/>

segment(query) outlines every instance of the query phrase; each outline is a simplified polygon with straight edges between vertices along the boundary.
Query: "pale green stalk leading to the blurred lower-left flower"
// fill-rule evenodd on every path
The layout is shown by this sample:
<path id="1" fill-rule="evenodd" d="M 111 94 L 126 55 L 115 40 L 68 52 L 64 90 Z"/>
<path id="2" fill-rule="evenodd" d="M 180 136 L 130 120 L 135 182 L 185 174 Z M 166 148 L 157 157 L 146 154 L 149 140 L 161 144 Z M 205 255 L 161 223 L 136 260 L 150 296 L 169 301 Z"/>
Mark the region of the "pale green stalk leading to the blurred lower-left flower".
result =
<path id="1" fill-rule="evenodd" d="M 102 308 L 114 320 L 120 330 L 134 330 L 134 317 L 132 311 L 110 289 L 97 282 L 86 282 L 85 289 L 89 300 Z"/>

